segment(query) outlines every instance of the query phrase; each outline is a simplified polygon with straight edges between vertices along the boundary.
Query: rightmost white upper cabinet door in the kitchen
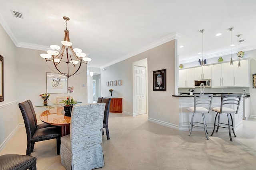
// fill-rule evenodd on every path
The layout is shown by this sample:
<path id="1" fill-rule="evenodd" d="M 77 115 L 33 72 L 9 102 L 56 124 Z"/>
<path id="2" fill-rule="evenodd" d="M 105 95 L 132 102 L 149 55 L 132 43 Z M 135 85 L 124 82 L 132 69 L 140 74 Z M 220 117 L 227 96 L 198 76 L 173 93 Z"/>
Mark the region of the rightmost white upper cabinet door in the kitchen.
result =
<path id="1" fill-rule="evenodd" d="M 240 64 L 238 68 L 238 61 L 234 61 L 234 86 L 250 86 L 248 59 L 241 60 Z"/>

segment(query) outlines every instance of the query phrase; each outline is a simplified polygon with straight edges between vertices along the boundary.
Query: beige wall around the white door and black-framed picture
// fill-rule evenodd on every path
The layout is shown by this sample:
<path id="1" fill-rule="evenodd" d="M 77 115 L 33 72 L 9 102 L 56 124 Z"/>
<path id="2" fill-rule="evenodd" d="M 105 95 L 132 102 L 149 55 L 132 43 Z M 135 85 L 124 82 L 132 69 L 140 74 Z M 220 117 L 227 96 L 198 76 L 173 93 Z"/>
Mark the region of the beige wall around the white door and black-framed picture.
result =
<path id="1" fill-rule="evenodd" d="M 123 98 L 123 112 L 133 115 L 133 62 L 148 60 L 148 119 L 166 126 L 179 125 L 178 98 L 175 94 L 176 40 L 164 43 L 148 51 L 111 65 L 101 71 L 102 96 L 110 96 L 108 89 L 114 89 L 113 97 Z M 152 90 L 152 73 L 166 69 L 166 91 Z M 106 81 L 122 79 L 121 86 L 107 87 Z M 161 116 L 158 112 L 161 112 Z"/>

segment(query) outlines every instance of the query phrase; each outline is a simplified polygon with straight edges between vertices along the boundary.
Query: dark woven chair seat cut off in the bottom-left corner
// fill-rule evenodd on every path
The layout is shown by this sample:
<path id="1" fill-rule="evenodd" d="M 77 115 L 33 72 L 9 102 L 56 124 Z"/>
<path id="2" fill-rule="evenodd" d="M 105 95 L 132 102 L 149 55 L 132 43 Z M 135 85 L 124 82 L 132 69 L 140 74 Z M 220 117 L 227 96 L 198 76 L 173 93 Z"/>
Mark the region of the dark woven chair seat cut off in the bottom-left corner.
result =
<path id="1" fill-rule="evenodd" d="M 1 170 L 36 170 L 36 158 L 27 155 L 6 154 L 0 156 Z"/>

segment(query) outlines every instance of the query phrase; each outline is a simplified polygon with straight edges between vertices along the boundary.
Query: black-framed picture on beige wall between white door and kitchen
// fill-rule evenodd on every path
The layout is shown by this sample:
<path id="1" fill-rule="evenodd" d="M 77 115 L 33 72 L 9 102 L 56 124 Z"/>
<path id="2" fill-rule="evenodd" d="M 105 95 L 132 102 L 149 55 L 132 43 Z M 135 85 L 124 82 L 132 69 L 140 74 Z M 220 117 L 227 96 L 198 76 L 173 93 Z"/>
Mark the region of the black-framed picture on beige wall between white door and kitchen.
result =
<path id="1" fill-rule="evenodd" d="M 166 69 L 153 71 L 153 91 L 166 91 Z"/>

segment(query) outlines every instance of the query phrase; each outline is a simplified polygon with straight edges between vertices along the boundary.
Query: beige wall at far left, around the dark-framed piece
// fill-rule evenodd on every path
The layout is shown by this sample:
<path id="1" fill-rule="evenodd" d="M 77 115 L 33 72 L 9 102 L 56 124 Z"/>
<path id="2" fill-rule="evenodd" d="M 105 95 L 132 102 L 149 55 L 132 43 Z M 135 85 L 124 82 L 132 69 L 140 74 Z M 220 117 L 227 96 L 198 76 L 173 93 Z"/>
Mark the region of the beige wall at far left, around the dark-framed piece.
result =
<path id="1" fill-rule="evenodd" d="M 0 25 L 0 54 L 4 57 L 4 101 L 0 103 L 0 147 L 21 119 L 17 103 L 16 46 Z"/>

